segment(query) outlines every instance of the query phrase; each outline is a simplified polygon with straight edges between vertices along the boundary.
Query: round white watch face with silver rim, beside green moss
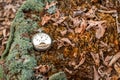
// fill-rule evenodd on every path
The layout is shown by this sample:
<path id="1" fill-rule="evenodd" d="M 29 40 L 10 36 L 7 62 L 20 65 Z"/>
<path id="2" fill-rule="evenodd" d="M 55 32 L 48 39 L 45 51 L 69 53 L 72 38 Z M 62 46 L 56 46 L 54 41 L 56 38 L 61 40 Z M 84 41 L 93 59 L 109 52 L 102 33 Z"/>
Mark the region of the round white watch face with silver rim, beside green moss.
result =
<path id="1" fill-rule="evenodd" d="M 46 33 L 37 33 L 32 39 L 33 45 L 37 50 L 47 50 L 50 48 L 52 40 Z"/>

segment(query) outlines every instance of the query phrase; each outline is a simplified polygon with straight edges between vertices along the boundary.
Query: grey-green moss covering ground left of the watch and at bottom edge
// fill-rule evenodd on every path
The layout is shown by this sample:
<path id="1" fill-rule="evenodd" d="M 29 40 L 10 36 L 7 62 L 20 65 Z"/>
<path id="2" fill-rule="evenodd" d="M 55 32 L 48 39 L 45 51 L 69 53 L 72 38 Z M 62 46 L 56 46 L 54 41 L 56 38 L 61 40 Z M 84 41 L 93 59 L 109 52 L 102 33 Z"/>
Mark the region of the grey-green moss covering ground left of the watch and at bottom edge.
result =
<path id="1" fill-rule="evenodd" d="M 4 74 L 0 66 L 0 78 L 6 78 L 7 80 L 32 80 L 34 77 L 33 68 L 37 66 L 37 61 L 33 55 L 33 45 L 29 36 L 38 28 L 38 25 L 34 20 L 26 19 L 24 11 L 42 11 L 43 3 L 46 1 L 51 2 L 52 0 L 27 0 L 16 13 L 11 25 L 6 50 L 2 55 L 2 59 L 6 60 L 5 65 L 8 72 Z M 28 37 L 23 36 L 24 34 L 28 35 Z M 6 77 L 3 75 L 6 75 Z M 55 76 L 58 75 L 65 77 L 63 73 L 55 74 Z"/>

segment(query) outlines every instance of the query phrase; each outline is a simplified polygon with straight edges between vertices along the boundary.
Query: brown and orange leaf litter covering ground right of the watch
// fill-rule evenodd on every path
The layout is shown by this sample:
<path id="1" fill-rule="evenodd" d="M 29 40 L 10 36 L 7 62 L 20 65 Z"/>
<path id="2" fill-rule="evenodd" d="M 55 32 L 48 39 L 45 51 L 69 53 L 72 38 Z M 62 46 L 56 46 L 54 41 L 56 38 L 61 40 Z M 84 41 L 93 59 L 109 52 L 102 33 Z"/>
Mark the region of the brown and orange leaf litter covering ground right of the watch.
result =
<path id="1" fill-rule="evenodd" d="M 120 2 L 116 2 L 57 0 L 46 3 L 45 14 L 40 15 L 38 24 L 52 37 L 53 44 L 47 51 L 36 52 L 41 54 L 35 54 L 39 65 L 35 73 L 49 77 L 62 70 L 68 80 L 119 79 Z M 47 13 L 53 6 L 56 6 L 55 13 Z M 10 9 L 16 11 L 14 6 Z M 0 31 L 2 37 L 9 35 L 5 29 Z"/>

